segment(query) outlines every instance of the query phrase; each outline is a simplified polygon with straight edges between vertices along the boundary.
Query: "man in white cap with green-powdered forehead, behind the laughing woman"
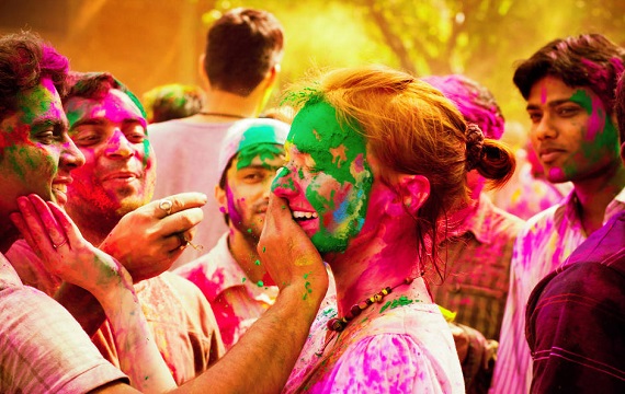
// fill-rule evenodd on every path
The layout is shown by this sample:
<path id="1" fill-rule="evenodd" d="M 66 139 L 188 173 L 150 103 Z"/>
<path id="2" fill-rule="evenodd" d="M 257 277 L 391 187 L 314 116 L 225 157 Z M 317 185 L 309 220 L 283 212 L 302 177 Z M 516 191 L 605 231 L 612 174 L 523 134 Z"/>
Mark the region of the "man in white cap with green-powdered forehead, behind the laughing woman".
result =
<path id="1" fill-rule="evenodd" d="M 219 149 L 215 199 L 228 225 L 217 245 L 177 274 L 194 282 L 211 303 L 229 349 L 277 296 L 257 252 L 271 182 L 284 164 L 289 126 L 275 119 L 234 124 Z M 217 220 L 215 218 L 214 220 Z"/>

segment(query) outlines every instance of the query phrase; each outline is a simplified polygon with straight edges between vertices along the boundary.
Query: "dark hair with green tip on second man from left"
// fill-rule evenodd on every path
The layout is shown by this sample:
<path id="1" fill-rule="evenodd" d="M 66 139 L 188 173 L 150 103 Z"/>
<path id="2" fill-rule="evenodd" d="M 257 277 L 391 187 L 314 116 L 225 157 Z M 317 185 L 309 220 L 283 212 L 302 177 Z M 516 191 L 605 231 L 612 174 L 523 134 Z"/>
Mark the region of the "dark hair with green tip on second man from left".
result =
<path id="1" fill-rule="evenodd" d="M 146 111 L 139 99 L 130 92 L 125 84 L 120 82 L 110 72 L 77 72 L 71 71 L 67 79 L 68 91 L 63 95 L 63 103 L 67 103 L 72 97 L 83 99 L 102 99 L 109 93 L 111 89 L 118 89 L 126 93 L 128 97 L 137 105 L 141 112 L 141 116 L 146 117 Z"/>

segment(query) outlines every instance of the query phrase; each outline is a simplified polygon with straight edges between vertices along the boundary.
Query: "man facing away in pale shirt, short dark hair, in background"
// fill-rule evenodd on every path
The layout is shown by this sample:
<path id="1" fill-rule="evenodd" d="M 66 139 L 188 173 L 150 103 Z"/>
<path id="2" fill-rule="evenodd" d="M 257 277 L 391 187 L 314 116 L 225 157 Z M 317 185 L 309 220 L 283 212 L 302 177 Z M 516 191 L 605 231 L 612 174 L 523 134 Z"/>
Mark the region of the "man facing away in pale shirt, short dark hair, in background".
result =
<path id="1" fill-rule="evenodd" d="M 160 162 L 155 198 L 182 192 L 213 195 L 219 144 L 237 120 L 257 117 L 264 107 L 280 71 L 283 42 L 282 26 L 265 11 L 235 9 L 215 22 L 203 55 L 203 109 L 148 128 Z M 203 209 L 195 243 L 204 250 L 186 248 L 175 266 L 198 258 L 227 230 L 214 200 Z"/>

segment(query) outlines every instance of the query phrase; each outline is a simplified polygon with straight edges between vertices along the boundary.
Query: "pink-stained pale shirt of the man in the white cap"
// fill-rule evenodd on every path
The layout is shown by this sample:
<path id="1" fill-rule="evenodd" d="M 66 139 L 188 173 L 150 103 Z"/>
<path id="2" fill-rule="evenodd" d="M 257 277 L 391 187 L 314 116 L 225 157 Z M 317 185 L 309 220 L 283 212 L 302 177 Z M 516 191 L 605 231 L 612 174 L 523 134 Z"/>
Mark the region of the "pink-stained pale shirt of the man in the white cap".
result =
<path id="1" fill-rule="evenodd" d="M 277 286 L 259 286 L 248 280 L 228 250 L 227 233 L 211 252 L 177 268 L 174 274 L 202 290 L 215 312 L 226 349 L 273 305 L 279 291 Z"/>

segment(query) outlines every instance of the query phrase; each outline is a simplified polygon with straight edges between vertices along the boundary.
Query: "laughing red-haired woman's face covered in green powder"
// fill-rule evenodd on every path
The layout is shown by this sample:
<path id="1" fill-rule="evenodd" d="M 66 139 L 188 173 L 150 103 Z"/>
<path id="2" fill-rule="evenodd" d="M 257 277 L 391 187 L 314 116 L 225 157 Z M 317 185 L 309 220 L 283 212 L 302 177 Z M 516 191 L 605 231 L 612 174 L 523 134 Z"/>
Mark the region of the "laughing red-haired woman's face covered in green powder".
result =
<path id="1" fill-rule="evenodd" d="M 353 125 L 341 127 L 332 106 L 316 102 L 293 120 L 285 150 L 273 192 L 288 200 L 320 253 L 344 251 L 364 224 L 373 184 L 365 139 Z"/>

